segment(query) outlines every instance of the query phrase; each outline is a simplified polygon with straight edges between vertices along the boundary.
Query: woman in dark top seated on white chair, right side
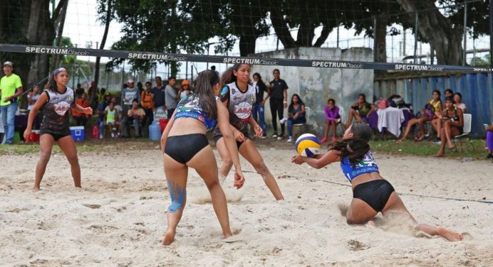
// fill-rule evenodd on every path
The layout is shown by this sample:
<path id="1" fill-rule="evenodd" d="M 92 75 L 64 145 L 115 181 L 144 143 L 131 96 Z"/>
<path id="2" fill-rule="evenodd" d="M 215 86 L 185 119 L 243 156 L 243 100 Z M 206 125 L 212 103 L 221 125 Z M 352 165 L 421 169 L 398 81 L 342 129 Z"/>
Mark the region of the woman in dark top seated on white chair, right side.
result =
<path id="1" fill-rule="evenodd" d="M 440 129 L 441 143 L 440 150 L 435 154 L 435 157 L 445 156 L 445 142 L 450 149 L 454 149 L 455 145 L 452 143 L 452 138 L 464 133 L 462 129 L 464 127 L 464 116 L 462 109 L 454 106 L 454 99 L 447 97 L 445 99 L 445 109 L 442 111 L 442 128 Z"/>

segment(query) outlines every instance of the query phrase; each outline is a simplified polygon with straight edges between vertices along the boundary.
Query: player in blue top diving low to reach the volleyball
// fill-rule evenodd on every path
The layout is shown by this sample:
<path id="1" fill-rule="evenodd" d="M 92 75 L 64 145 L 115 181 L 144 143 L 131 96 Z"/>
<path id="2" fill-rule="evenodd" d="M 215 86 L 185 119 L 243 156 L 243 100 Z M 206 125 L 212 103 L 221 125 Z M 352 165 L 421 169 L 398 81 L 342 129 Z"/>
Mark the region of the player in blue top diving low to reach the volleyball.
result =
<path id="1" fill-rule="evenodd" d="M 378 212 L 382 212 L 384 216 L 388 212 L 403 212 L 415 222 L 417 229 L 427 234 L 440 235 L 449 241 L 462 240 L 461 234 L 450 229 L 417 224 L 394 191 L 394 187 L 380 176 L 378 165 L 368 145 L 372 133 L 368 124 L 355 122 L 344 133 L 343 141 L 333 143 L 327 153 L 314 158 L 296 155 L 291 161 L 296 164 L 308 163 L 313 168 L 341 163 L 341 169 L 353 187 L 353 200 L 346 213 L 348 224 L 367 224 L 375 227 L 372 219 Z"/>

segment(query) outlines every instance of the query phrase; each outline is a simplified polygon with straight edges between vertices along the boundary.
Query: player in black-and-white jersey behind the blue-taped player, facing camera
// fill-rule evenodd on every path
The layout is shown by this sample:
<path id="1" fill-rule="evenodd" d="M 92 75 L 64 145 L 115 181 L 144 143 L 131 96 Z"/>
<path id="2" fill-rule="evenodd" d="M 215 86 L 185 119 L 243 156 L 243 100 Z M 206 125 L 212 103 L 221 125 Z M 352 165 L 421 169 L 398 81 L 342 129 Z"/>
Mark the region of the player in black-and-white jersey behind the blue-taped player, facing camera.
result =
<path id="1" fill-rule="evenodd" d="M 262 129 L 251 116 L 251 107 L 255 104 L 255 89 L 248 84 L 250 80 L 250 65 L 234 64 L 229 67 L 221 77 L 220 99 L 229 111 L 229 123 L 237 141 L 238 151 L 259 173 L 264 182 L 271 190 L 276 200 L 284 200 L 279 190 L 274 175 L 269 171 L 264 163 L 264 159 L 256 150 L 254 142 L 248 136 L 248 124 L 254 127 L 255 136 L 262 136 Z M 232 154 L 224 143 L 222 131 L 214 131 L 214 141 L 216 141 L 217 151 L 221 156 L 222 164 L 219 168 L 219 175 L 226 178 L 232 167 Z"/>

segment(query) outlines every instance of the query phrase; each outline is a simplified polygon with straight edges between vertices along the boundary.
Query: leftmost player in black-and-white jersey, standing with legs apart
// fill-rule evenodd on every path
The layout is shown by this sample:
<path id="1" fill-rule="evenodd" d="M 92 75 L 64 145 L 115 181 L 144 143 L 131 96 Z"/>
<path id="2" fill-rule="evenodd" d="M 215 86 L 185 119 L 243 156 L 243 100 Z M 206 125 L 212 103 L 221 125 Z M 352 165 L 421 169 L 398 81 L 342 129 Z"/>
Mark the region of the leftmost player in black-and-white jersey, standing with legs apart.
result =
<path id="1" fill-rule="evenodd" d="M 67 82 L 68 72 L 65 68 L 59 67 L 53 71 L 48 81 L 48 89 L 45 89 L 29 112 L 27 128 L 24 131 L 26 140 L 31 136 L 34 117 L 38 114 L 38 110 L 43 108 L 43 121 L 39 132 L 41 157 L 36 165 L 34 191 L 39 190 L 46 165 L 50 160 L 51 148 L 55 142 L 58 142 L 58 146 L 71 165 L 73 182 L 76 187 L 81 187 L 81 167 L 78 163 L 76 143 L 73 142 L 70 129 L 68 129 L 68 109 L 72 108 L 82 114 L 93 114 L 93 109 L 83 108 L 76 104 L 73 89 L 67 87 Z"/>

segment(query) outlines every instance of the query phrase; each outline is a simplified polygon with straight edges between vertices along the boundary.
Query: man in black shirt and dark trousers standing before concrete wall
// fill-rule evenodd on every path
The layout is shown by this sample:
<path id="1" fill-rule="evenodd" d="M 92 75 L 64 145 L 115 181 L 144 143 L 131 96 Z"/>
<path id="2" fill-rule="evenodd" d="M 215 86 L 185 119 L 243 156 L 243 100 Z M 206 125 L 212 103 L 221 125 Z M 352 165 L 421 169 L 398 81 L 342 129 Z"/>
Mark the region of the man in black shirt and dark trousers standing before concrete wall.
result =
<path id="1" fill-rule="evenodd" d="M 271 80 L 269 88 L 269 94 L 267 94 L 266 98 L 270 99 L 270 107 L 271 107 L 271 115 L 272 115 L 272 127 L 274 128 L 273 138 L 277 138 L 277 140 L 284 139 L 284 124 L 281 124 L 281 134 L 277 135 L 277 118 L 276 115 L 279 116 L 279 121 L 283 119 L 284 109 L 288 107 L 288 85 L 286 81 L 281 79 L 281 72 L 278 69 L 275 69 L 272 72 L 274 75 L 274 80 Z"/>

